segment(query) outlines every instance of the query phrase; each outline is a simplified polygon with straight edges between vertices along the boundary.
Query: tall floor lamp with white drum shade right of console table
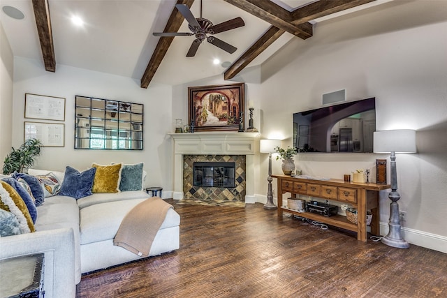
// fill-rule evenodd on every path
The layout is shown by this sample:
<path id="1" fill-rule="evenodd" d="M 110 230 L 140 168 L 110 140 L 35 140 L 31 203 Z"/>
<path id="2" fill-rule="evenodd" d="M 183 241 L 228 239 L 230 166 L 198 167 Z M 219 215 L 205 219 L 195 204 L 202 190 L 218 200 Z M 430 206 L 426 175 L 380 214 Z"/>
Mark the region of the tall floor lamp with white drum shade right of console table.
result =
<path id="1" fill-rule="evenodd" d="M 382 237 L 383 244 L 397 248 L 409 248 L 410 244 L 405 241 L 400 232 L 399 204 L 400 194 L 397 193 L 397 170 L 395 153 L 415 153 L 416 152 L 416 131 L 409 129 L 394 131 L 374 132 L 374 152 L 391 153 L 391 192 L 388 198 L 391 200 L 390 221 L 388 223 L 389 232 Z"/>

